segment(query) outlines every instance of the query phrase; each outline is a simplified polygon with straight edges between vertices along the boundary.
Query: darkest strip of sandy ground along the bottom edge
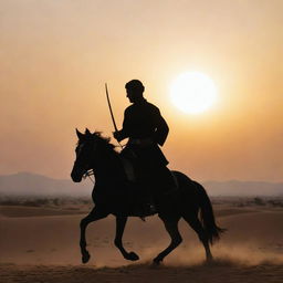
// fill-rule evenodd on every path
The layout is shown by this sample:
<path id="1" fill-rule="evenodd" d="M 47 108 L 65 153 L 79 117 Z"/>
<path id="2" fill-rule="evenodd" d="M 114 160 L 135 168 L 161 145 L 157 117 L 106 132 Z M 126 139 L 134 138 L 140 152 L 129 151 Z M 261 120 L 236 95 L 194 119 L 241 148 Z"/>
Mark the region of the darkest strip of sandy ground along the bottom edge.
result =
<path id="1" fill-rule="evenodd" d="M 186 283 L 282 283 L 282 265 L 261 264 L 242 266 L 228 262 L 187 268 L 129 265 L 124 268 L 94 269 L 90 266 L 0 266 L 2 282 L 186 282 Z"/>

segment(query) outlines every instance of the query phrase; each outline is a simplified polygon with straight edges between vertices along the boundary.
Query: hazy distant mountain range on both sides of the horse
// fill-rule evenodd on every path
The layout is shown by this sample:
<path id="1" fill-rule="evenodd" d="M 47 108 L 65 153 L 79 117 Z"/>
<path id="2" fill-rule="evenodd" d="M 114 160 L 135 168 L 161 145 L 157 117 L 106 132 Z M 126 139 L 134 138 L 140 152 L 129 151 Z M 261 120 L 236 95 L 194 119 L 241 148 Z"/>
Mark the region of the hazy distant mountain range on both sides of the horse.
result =
<path id="1" fill-rule="evenodd" d="M 283 182 L 231 180 L 202 185 L 209 196 L 283 196 Z M 52 179 L 30 172 L 0 176 L 0 196 L 90 197 L 92 189 L 93 184 L 87 179 L 75 184 L 71 179 Z"/>

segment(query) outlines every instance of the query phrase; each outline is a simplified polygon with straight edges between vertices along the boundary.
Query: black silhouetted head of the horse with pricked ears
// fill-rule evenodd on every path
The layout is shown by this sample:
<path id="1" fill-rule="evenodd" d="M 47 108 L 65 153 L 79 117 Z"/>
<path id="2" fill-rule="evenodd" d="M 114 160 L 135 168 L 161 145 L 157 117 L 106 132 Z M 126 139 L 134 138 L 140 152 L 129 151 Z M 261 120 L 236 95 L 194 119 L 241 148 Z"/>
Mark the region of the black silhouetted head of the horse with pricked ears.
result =
<path id="1" fill-rule="evenodd" d="M 96 134 L 92 134 L 87 128 L 82 134 L 76 129 L 78 143 L 75 148 L 75 161 L 71 172 L 72 180 L 80 182 L 90 169 L 93 168 L 95 151 L 97 150 L 98 139 Z"/>

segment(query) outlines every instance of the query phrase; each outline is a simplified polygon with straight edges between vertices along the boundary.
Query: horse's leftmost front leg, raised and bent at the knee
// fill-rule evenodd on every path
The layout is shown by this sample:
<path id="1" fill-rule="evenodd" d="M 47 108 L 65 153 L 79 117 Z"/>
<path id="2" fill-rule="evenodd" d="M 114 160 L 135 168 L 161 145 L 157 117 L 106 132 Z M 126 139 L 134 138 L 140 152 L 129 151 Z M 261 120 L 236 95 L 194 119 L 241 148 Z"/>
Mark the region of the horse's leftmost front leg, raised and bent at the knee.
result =
<path id="1" fill-rule="evenodd" d="M 103 212 L 102 210 L 98 210 L 97 208 L 94 208 L 90 214 L 85 218 L 83 218 L 81 220 L 81 224 L 80 224 L 80 228 L 81 228 L 81 239 L 80 239 L 80 247 L 81 247 L 81 253 L 82 253 L 82 262 L 83 263 L 86 263 L 90 261 L 91 259 L 91 255 L 88 253 L 88 251 L 86 250 L 86 239 L 85 239 L 85 230 L 86 230 L 86 227 L 93 222 L 93 221 L 96 221 L 96 220 L 99 220 L 99 219 L 103 219 L 105 217 L 107 217 L 108 213 L 106 212 Z"/>

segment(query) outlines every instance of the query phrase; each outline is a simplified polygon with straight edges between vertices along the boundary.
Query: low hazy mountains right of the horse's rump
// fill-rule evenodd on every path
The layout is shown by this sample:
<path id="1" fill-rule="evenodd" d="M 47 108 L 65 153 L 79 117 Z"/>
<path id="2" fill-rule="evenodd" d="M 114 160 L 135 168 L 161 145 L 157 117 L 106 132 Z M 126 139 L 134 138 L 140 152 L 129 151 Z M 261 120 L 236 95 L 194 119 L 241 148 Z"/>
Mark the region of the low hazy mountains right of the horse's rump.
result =
<path id="1" fill-rule="evenodd" d="M 202 185 L 210 196 L 283 196 L 283 182 L 230 180 Z"/>

